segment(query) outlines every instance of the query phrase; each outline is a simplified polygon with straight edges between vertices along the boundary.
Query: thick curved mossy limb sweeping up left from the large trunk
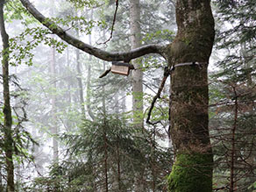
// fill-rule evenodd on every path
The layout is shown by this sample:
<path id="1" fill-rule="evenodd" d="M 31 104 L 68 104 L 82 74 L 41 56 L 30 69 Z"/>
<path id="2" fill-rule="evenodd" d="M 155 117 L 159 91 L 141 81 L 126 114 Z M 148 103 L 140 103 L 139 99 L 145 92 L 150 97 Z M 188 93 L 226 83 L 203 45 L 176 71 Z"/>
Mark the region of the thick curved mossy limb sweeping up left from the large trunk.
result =
<path id="1" fill-rule="evenodd" d="M 103 51 L 102 49 L 96 48 L 95 46 L 90 46 L 82 42 L 79 39 L 76 39 L 72 35 L 65 32 L 59 25 L 56 25 L 49 18 L 43 16 L 31 3 L 29 0 L 20 0 L 20 2 L 25 6 L 25 9 L 29 11 L 34 18 L 36 18 L 42 25 L 45 25 L 51 32 L 60 37 L 60 39 L 66 41 L 68 44 L 75 46 L 76 48 L 82 50 L 83 52 L 92 54 L 102 60 L 124 60 L 130 61 L 132 59 L 144 56 L 149 53 L 159 53 L 164 56 L 166 47 L 158 44 L 140 46 L 139 48 L 132 49 L 129 52 L 123 53 L 110 53 Z"/>

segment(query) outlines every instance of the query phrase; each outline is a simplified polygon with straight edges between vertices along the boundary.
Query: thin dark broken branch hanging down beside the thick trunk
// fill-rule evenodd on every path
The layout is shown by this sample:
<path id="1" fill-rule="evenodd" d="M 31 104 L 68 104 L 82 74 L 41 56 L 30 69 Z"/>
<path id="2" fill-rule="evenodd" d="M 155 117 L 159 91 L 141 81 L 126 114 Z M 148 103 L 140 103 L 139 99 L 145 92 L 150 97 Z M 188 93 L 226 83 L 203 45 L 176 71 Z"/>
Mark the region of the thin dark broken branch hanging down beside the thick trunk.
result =
<path id="1" fill-rule="evenodd" d="M 157 121 L 157 122 L 155 122 L 155 123 L 150 122 L 150 117 L 151 117 L 151 113 L 152 113 L 152 110 L 153 110 L 153 107 L 154 107 L 154 103 L 156 102 L 156 100 L 157 100 L 158 98 L 160 98 L 160 94 L 161 94 L 162 90 L 163 90 L 164 87 L 165 87 L 165 83 L 166 83 L 166 81 L 167 81 L 168 75 L 170 75 L 170 69 L 169 69 L 169 68 L 165 68 L 164 77 L 163 77 L 163 79 L 162 79 L 162 82 L 160 83 L 160 88 L 158 89 L 158 92 L 157 92 L 156 96 L 153 97 L 153 101 L 152 101 L 151 106 L 150 106 L 150 108 L 149 108 L 149 110 L 148 110 L 148 113 L 147 113 L 147 118 L 146 118 L 146 123 L 147 123 L 147 124 L 152 124 L 152 125 L 154 125 L 154 124 L 160 123 L 160 121 Z"/>

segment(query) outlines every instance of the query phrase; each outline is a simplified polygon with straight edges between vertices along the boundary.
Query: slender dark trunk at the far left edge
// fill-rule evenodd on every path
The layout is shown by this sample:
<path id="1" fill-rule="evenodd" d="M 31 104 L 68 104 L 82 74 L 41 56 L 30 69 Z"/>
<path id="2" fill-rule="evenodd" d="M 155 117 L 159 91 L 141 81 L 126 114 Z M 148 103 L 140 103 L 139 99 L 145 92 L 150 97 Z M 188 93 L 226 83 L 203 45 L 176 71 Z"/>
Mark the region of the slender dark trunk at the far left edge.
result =
<path id="1" fill-rule="evenodd" d="M 9 89 L 9 35 L 5 31 L 4 26 L 4 0 L 0 0 L 0 31 L 3 40 L 3 89 L 4 89 L 4 153 L 7 172 L 7 192 L 12 192 L 14 186 L 14 166 L 13 166 L 13 139 L 12 139 L 12 118 L 11 118 L 11 102 Z"/>

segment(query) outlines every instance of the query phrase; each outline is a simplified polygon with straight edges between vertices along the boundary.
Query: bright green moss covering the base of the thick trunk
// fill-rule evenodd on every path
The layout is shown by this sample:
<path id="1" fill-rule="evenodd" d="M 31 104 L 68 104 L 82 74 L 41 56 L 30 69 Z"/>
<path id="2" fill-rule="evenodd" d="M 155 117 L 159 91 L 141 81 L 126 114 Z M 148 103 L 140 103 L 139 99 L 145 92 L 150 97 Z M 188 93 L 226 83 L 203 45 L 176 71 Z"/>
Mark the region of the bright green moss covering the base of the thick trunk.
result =
<path id="1" fill-rule="evenodd" d="M 211 153 L 178 154 L 172 173 L 167 178 L 168 191 L 211 192 L 211 170 Z"/>

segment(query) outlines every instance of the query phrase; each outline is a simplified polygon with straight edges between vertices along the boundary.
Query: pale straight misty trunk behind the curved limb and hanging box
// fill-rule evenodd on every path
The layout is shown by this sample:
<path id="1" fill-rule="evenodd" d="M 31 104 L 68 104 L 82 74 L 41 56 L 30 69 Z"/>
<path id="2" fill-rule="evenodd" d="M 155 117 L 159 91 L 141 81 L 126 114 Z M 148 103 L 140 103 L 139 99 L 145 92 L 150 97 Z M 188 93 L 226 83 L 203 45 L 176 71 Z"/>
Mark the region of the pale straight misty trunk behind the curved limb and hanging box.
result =
<path id="1" fill-rule="evenodd" d="M 132 49 L 141 46 L 140 8 L 139 0 L 130 1 L 130 31 Z M 141 68 L 141 59 L 134 60 L 135 68 Z M 143 73 L 137 69 L 132 71 L 132 110 L 133 121 L 138 127 L 143 127 Z"/>

